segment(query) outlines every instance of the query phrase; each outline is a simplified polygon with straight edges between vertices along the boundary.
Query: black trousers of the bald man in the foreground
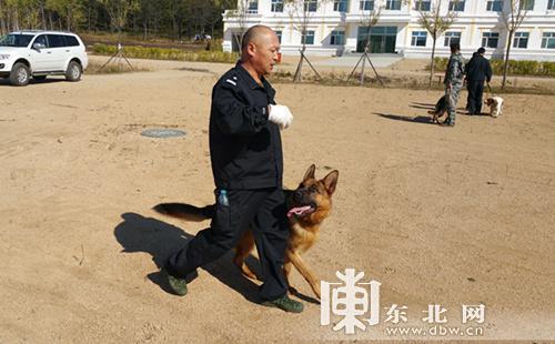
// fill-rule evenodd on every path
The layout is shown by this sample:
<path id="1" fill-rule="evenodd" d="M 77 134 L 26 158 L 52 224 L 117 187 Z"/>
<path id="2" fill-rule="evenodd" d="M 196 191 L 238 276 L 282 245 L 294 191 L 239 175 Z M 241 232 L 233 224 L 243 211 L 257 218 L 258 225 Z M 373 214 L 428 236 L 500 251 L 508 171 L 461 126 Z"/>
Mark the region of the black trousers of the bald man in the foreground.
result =
<path id="1" fill-rule="evenodd" d="M 184 277 L 234 247 L 246 230 L 252 230 L 262 266 L 263 300 L 286 293 L 283 263 L 289 239 L 285 196 L 281 188 L 228 190 L 228 202 L 218 198 L 209 229 L 200 231 L 185 247 L 168 259 L 170 274 Z"/>

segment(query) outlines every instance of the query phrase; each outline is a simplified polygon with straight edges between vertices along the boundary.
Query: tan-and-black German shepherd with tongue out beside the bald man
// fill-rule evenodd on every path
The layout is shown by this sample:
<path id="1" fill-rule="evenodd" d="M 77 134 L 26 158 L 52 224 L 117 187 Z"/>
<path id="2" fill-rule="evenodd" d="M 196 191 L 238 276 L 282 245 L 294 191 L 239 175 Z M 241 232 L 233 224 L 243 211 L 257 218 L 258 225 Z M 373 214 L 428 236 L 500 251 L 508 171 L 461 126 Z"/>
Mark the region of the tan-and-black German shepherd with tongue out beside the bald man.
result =
<path id="1" fill-rule="evenodd" d="M 332 195 L 337 185 L 339 171 L 333 170 L 323 179 L 317 180 L 314 176 L 315 170 L 316 166 L 314 164 L 309 168 L 296 190 L 284 190 L 291 233 L 285 251 L 283 274 L 290 292 L 295 292 L 295 289 L 289 282 L 291 267 L 295 266 L 320 300 L 320 281 L 301 259 L 301 254 L 314 245 L 317 241 L 322 222 L 331 214 Z M 173 217 L 188 221 L 202 221 L 212 219 L 214 208 L 215 205 L 196 208 L 181 203 L 162 203 L 154 206 L 154 210 Z M 233 263 L 241 270 L 244 276 L 260 280 L 245 264 L 245 260 L 253 249 L 254 237 L 251 231 L 246 231 L 235 246 Z"/>

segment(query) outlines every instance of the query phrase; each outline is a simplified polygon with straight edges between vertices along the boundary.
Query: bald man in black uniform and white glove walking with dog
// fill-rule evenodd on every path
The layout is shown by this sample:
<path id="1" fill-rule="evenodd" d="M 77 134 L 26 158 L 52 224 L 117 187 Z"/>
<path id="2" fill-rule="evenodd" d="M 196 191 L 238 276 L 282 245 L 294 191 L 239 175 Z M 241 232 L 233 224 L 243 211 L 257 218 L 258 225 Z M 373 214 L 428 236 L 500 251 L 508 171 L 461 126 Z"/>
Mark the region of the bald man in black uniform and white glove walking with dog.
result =
<path id="1" fill-rule="evenodd" d="M 280 42 L 272 29 L 250 28 L 243 37 L 241 61 L 212 90 L 210 153 L 215 183 L 211 226 L 172 254 L 164 267 L 178 295 L 186 294 L 185 276 L 235 246 L 252 230 L 264 283 L 263 304 L 300 313 L 302 303 L 287 296 L 283 276 L 289 237 L 282 189 L 283 156 L 280 129 L 293 117 L 274 101 L 264 75 L 278 62 Z"/>

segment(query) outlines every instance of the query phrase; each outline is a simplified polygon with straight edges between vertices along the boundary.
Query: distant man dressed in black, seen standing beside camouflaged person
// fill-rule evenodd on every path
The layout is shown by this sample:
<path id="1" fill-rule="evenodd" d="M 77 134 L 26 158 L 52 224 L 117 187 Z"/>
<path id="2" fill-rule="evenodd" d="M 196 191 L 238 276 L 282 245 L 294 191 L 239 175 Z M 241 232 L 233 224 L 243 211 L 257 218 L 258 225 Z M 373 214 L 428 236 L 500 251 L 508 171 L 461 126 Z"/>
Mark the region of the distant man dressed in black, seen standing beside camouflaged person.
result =
<path id="1" fill-rule="evenodd" d="M 477 54 L 471 59 L 466 70 L 466 82 L 468 89 L 468 114 L 482 113 L 482 94 L 484 93 L 484 80 L 492 80 L 492 67 L 484 58 L 485 49 L 480 48 Z"/>

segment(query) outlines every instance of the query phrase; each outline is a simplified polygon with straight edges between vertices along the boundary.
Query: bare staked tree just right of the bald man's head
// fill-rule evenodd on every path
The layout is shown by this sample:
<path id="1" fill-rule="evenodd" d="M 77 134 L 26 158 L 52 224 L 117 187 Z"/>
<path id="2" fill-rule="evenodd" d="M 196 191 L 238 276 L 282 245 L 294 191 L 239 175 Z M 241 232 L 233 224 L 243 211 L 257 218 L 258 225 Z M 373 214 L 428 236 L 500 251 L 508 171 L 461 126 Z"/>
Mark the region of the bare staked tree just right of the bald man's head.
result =
<path id="1" fill-rule="evenodd" d="M 316 71 L 314 65 L 312 65 L 304 52 L 306 51 L 306 39 L 311 20 L 326 2 L 329 2 L 329 0 L 285 0 L 284 2 L 287 8 L 289 16 L 291 17 L 293 28 L 301 33 L 301 58 L 299 59 L 295 75 L 293 77 L 294 82 L 302 81 L 303 61 L 306 61 L 312 71 L 321 78 L 320 73 Z"/>

